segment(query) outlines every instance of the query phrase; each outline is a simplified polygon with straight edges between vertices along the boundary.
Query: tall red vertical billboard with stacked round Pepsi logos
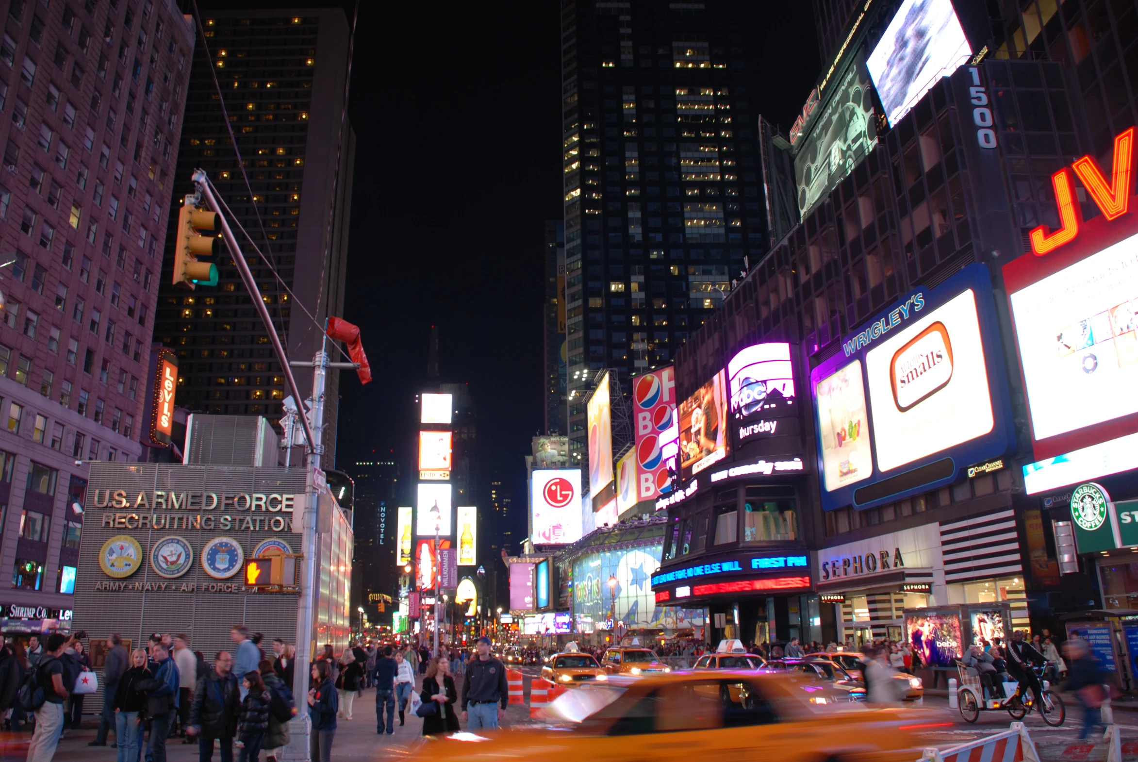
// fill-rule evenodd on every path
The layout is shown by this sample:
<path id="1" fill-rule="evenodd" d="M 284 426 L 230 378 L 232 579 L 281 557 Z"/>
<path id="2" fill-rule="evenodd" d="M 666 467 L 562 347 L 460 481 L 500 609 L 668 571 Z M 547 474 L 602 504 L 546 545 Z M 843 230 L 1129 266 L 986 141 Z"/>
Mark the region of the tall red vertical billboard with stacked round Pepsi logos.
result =
<path id="1" fill-rule="evenodd" d="M 633 379 L 636 424 L 636 502 L 671 491 L 679 429 L 676 423 L 676 375 L 671 365 Z M 670 473 L 669 473 L 670 470 Z"/>

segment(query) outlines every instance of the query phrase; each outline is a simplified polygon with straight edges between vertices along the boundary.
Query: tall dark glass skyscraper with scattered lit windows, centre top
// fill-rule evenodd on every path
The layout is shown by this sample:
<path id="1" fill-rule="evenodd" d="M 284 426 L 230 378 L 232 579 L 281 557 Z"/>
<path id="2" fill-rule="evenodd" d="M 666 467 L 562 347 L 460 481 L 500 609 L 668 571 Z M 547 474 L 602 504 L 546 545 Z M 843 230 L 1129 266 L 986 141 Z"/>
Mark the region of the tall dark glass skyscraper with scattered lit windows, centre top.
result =
<path id="1" fill-rule="evenodd" d="M 571 456 L 584 392 L 667 363 L 766 251 L 757 177 L 760 3 L 563 0 Z"/>

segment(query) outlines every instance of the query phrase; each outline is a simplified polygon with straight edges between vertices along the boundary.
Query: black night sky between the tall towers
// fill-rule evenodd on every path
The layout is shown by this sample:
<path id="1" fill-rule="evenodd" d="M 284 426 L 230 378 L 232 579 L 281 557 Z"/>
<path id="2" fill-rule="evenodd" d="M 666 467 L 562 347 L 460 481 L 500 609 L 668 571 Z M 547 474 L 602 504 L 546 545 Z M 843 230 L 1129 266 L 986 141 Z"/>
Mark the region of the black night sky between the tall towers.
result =
<path id="1" fill-rule="evenodd" d="M 353 9 L 199 5 L 340 6 L 349 20 Z M 808 3 L 767 5 L 753 34 L 770 81 L 754 100 L 785 132 L 820 71 L 818 45 Z M 543 224 L 561 217 L 560 41 L 555 0 L 360 3 L 344 317 L 374 380 L 341 379 L 338 467 L 372 450 L 410 463 L 437 325 L 443 380 L 468 382 L 478 411 L 483 487 L 501 478 L 526 505 L 522 458 L 543 426 Z"/>

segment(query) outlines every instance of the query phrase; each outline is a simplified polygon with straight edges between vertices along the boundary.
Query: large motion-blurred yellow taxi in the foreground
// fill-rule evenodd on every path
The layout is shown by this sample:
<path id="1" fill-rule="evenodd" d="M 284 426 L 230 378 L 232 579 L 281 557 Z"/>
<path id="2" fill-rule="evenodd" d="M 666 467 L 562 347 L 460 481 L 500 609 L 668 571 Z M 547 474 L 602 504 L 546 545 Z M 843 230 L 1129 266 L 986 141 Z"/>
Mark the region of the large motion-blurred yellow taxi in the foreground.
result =
<path id="1" fill-rule="evenodd" d="M 923 710 L 867 709 L 824 701 L 817 682 L 754 672 L 677 671 L 613 677 L 569 690 L 545 710 L 546 726 L 460 732 L 426 740 L 415 762 L 692 759 L 912 762 Z"/>

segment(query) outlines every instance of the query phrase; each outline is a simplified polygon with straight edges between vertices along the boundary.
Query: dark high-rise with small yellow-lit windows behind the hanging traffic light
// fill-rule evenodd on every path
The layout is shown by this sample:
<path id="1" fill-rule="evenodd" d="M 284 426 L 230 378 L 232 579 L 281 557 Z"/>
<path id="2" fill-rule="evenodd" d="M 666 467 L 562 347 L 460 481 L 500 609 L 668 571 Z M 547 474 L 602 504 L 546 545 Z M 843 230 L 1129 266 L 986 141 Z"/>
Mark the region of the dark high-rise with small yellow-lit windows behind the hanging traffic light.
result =
<path id="1" fill-rule="evenodd" d="M 182 194 L 192 192 L 193 169 L 205 169 L 232 210 L 231 224 L 240 224 L 264 255 L 257 256 L 233 225 L 289 357 L 311 359 L 325 318 L 343 313 L 354 151 L 347 122 L 341 133 L 347 19 L 340 10 L 224 10 L 207 11 L 203 25 L 205 47 L 191 69 L 190 121 L 172 214 Z M 288 394 L 281 368 L 229 254 L 218 259 L 216 287 L 187 291 L 171 285 L 173 235 L 167 237 L 155 338 L 179 356 L 180 405 L 275 420 Z M 312 374 L 295 372 L 306 395 Z M 330 373 L 324 445 L 332 456 L 337 391 L 338 374 Z"/>

